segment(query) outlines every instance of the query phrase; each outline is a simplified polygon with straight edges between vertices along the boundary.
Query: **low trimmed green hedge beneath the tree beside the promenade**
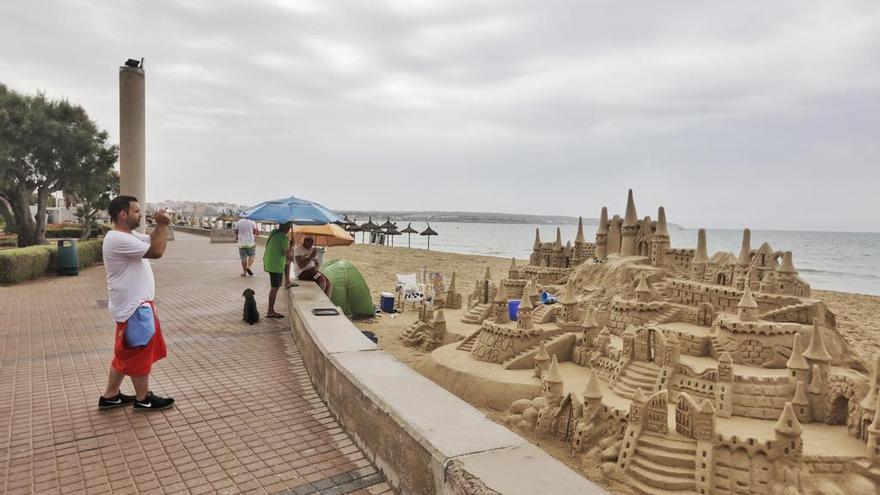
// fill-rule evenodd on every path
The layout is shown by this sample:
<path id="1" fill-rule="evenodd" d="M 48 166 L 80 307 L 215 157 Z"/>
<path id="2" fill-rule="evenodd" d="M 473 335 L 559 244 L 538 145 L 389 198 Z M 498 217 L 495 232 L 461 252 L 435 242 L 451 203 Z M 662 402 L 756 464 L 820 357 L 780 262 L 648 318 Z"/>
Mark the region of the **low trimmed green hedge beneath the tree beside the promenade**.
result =
<path id="1" fill-rule="evenodd" d="M 79 242 L 76 252 L 80 268 L 94 265 L 101 259 L 103 240 Z M 55 272 L 58 268 L 55 245 L 29 246 L 0 251 L 0 283 L 14 284 Z"/>

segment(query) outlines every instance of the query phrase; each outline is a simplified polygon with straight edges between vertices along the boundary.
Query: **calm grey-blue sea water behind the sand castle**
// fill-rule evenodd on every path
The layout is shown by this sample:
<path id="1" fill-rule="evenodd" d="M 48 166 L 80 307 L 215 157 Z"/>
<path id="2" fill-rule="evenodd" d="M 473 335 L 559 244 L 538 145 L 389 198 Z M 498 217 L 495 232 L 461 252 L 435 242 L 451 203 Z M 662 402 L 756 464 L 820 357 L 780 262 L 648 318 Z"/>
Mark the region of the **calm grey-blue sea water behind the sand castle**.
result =
<path id="1" fill-rule="evenodd" d="M 423 230 L 423 224 L 413 225 Z M 439 235 L 431 237 L 431 249 L 465 254 L 482 254 L 528 260 L 535 239 L 535 229 L 541 240 L 556 238 L 555 225 L 500 224 L 500 223 L 445 223 L 431 222 Z M 574 243 L 577 225 L 561 225 L 562 243 Z M 585 225 L 587 242 L 595 241 L 596 226 Z M 673 248 L 694 248 L 697 229 L 670 227 Z M 360 238 L 358 238 L 358 241 Z M 427 247 L 427 238 L 413 235 L 412 247 Z M 709 256 L 717 251 L 739 255 L 742 230 L 706 229 Z M 752 249 L 767 242 L 775 251 L 791 251 L 795 268 L 801 278 L 815 289 L 880 295 L 880 233 L 852 232 L 794 232 L 781 230 L 752 230 Z M 396 246 L 406 246 L 407 236 L 394 240 Z"/>

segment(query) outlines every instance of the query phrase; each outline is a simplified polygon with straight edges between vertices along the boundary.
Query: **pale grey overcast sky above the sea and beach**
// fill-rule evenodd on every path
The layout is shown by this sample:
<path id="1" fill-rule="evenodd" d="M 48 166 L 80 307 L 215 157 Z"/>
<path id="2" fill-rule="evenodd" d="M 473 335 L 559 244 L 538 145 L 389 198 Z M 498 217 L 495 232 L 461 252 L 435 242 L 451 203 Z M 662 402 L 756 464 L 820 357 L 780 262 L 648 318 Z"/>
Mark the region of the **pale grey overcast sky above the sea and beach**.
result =
<path id="1" fill-rule="evenodd" d="M 0 82 L 118 140 L 148 199 L 880 231 L 880 3 L 0 3 Z"/>

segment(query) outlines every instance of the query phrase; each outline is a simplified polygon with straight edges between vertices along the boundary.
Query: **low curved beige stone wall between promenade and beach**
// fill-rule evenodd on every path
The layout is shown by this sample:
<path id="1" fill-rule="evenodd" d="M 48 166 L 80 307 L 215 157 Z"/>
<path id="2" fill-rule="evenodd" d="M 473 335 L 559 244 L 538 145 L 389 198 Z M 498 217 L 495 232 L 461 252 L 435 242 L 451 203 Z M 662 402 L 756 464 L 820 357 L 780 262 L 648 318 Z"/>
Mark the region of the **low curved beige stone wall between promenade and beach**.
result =
<path id="1" fill-rule="evenodd" d="M 546 452 L 377 346 L 311 282 L 287 291 L 290 327 L 318 395 L 400 493 L 604 494 Z"/>

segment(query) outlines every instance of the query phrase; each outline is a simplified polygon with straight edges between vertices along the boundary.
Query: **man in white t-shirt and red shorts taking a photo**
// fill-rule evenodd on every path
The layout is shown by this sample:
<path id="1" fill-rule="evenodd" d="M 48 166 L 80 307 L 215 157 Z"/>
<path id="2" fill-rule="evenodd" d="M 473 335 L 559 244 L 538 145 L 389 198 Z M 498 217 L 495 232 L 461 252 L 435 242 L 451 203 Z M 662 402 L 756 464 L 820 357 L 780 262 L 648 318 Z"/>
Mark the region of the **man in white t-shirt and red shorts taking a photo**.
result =
<path id="1" fill-rule="evenodd" d="M 108 212 L 113 230 L 104 237 L 102 251 L 107 271 L 107 307 L 116 322 L 116 343 L 107 389 L 98 399 L 98 408 L 134 404 L 136 411 L 167 409 L 174 405 L 174 399 L 150 391 L 153 363 L 167 355 L 167 348 L 156 315 L 156 285 L 149 260 L 165 254 L 170 219 L 163 211 L 156 212 L 156 226 L 152 235 L 146 236 L 134 230 L 140 226 L 141 218 L 137 198 L 117 196 L 110 201 Z M 134 396 L 120 391 L 126 376 L 134 385 Z"/>

